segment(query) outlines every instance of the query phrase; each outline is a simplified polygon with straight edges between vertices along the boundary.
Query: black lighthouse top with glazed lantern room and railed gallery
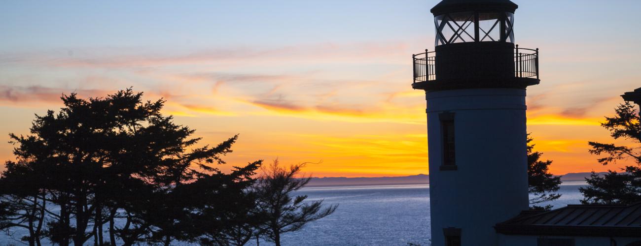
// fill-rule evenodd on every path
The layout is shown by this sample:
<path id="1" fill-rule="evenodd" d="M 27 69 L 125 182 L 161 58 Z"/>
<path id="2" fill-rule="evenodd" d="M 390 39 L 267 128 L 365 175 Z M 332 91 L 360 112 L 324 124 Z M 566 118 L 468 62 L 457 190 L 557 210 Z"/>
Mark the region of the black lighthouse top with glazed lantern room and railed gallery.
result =
<path id="1" fill-rule="evenodd" d="M 522 88 L 539 83 L 538 49 L 515 45 L 510 0 L 434 6 L 435 48 L 412 56 L 414 89 Z"/>

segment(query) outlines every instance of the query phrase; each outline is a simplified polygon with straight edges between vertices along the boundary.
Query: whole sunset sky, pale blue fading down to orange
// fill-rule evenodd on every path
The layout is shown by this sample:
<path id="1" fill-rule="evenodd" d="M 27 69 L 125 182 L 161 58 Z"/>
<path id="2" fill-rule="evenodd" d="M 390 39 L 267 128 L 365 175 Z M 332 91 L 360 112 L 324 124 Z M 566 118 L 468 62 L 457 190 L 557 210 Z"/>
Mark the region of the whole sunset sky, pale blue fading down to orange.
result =
<path id="1" fill-rule="evenodd" d="M 528 132 L 554 174 L 605 171 L 588 141 L 641 87 L 637 0 L 515 1 L 515 38 L 540 49 Z M 240 134 L 232 165 L 313 176 L 428 174 L 424 92 L 412 54 L 433 49 L 437 0 L 2 1 L 0 160 L 60 96 L 133 87 L 202 144 Z M 226 169 L 228 167 L 222 167 Z M 2 169 L 2 167 L 0 167 Z"/>

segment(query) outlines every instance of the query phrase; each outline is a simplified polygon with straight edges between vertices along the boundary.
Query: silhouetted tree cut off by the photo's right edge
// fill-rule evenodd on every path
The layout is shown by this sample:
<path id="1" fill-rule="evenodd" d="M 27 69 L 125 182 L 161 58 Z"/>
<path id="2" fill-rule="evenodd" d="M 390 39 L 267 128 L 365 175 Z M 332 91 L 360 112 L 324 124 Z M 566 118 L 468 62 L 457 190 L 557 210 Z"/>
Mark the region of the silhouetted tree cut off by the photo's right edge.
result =
<path id="1" fill-rule="evenodd" d="M 626 139 L 634 144 L 641 143 L 641 124 L 635 112 L 635 106 L 626 102 L 615 109 L 616 115 L 606 117 L 606 122 L 601 126 L 610 131 L 613 139 Z M 603 165 L 614 164 L 617 160 L 632 160 L 637 165 L 628 165 L 622 168 L 622 173 L 608 170 L 604 176 L 592 172 L 590 178 L 585 180 L 588 187 L 579 188 L 583 193 L 581 203 L 585 204 L 631 204 L 641 201 L 641 152 L 639 146 L 620 146 L 617 144 L 603 144 L 588 142 L 592 147 L 590 153 L 606 155 L 599 158 Z"/>

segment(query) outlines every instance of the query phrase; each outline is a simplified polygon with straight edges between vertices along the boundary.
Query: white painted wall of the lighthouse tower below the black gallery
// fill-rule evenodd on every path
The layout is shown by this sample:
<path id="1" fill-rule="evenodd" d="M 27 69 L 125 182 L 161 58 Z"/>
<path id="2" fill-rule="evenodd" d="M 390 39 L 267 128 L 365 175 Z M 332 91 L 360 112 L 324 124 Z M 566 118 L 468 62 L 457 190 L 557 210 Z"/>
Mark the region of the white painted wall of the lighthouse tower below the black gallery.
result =
<path id="1" fill-rule="evenodd" d="M 426 93 L 432 245 L 445 245 L 445 227 L 461 228 L 463 245 L 498 245 L 493 226 L 528 209 L 525 96 L 524 89 Z M 457 171 L 439 170 L 445 111 L 455 114 Z"/>

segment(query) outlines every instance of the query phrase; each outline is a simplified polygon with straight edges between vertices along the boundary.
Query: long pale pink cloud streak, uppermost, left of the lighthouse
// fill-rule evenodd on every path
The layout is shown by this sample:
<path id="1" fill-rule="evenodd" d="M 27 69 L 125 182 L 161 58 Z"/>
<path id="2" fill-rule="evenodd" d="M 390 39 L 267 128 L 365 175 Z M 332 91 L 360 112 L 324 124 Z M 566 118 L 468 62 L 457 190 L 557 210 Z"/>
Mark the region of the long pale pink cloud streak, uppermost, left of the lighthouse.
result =
<path id="1" fill-rule="evenodd" d="M 178 66 L 209 63 L 235 63 L 240 65 L 267 65 L 266 62 L 292 61 L 319 63 L 322 61 L 363 63 L 365 58 L 389 58 L 394 54 L 407 54 L 403 42 L 387 43 L 313 43 L 285 47 L 225 47 L 191 52 L 178 50 L 163 52 L 140 49 L 78 49 L 49 50 L 0 54 L 0 64 L 47 64 L 49 66 L 76 68 L 140 68 L 150 66 Z M 242 63 L 242 64 L 241 64 Z"/>

